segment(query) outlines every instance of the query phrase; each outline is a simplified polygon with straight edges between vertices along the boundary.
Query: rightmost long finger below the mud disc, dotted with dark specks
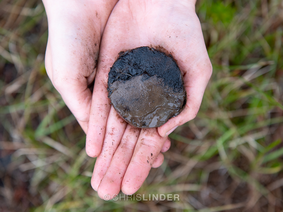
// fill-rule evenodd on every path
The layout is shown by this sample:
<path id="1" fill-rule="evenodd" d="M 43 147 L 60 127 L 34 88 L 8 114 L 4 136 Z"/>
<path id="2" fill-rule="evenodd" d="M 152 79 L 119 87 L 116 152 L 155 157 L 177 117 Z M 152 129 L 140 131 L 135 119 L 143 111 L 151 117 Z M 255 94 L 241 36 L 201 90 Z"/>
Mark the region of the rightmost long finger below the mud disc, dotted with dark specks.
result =
<path id="1" fill-rule="evenodd" d="M 124 194 L 131 195 L 141 187 L 165 141 L 166 138 L 160 137 L 156 128 L 141 129 L 136 148 L 121 184 Z"/>

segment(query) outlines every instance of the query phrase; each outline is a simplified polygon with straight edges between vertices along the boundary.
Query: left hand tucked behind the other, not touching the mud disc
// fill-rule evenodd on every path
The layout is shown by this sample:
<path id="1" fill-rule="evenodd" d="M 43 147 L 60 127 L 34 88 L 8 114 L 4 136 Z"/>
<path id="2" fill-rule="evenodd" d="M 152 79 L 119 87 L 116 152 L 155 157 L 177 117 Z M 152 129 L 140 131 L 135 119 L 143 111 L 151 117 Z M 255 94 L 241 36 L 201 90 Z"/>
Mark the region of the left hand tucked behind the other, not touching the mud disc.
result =
<path id="1" fill-rule="evenodd" d="M 85 132 L 100 40 L 117 1 L 43 1 L 48 18 L 46 71 Z"/>

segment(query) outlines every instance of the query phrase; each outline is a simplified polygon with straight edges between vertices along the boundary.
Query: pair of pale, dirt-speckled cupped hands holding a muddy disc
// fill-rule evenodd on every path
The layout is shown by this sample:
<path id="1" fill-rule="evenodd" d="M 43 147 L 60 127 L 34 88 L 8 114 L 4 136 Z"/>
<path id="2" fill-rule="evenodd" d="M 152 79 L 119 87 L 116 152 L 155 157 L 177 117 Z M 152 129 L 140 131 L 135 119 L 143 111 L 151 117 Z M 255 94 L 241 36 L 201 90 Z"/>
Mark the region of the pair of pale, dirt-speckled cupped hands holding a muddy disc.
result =
<path id="1" fill-rule="evenodd" d="M 104 195 L 135 193 L 162 164 L 168 134 L 198 113 L 211 77 L 195 0 L 44 0 L 48 17 L 46 71 L 86 132 L 97 157 L 91 185 Z M 158 128 L 127 124 L 111 106 L 108 72 L 119 52 L 149 46 L 172 54 L 183 74 L 185 109 Z M 98 57 L 99 52 L 99 57 Z M 93 93 L 89 89 L 94 81 Z"/>

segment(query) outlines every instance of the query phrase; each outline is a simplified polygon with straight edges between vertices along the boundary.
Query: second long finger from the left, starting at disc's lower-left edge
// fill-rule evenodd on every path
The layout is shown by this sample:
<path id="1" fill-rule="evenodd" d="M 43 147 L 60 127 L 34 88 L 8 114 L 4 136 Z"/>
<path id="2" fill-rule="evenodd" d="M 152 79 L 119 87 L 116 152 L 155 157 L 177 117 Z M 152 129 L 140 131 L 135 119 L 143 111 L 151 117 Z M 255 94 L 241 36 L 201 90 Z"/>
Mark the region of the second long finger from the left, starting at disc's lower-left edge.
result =
<path id="1" fill-rule="evenodd" d="M 102 150 L 96 159 L 91 178 L 91 186 L 95 191 L 110 165 L 127 125 L 113 107 L 110 109 L 108 119 Z"/>

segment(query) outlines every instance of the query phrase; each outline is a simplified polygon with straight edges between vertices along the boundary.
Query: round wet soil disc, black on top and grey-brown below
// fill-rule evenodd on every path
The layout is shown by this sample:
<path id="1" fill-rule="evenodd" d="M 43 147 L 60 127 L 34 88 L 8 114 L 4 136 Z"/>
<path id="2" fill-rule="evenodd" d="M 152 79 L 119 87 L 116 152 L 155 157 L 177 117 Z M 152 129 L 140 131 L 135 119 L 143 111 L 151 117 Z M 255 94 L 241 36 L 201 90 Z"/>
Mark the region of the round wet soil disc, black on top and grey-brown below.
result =
<path id="1" fill-rule="evenodd" d="M 120 52 L 107 90 L 118 114 L 139 128 L 160 127 L 186 105 L 183 76 L 173 57 L 149 47 Z"/>

